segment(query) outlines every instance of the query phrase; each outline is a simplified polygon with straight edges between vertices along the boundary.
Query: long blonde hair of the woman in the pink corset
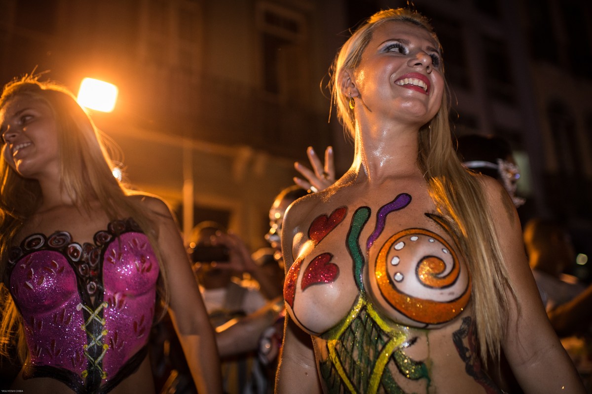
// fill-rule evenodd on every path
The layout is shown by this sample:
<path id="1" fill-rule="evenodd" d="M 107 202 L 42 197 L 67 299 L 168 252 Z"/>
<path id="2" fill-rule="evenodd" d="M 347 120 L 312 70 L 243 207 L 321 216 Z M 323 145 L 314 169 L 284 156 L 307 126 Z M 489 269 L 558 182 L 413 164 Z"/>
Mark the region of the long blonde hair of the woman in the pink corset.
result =
<path id="1" fill-rule="evenodd" d="M 133 217 L 150 239 L 157 257 L 157 226 L 135 198 L 128 198 L 133 191 L 126 188 L 112 175 L 112 163 L 105 149 L 101 132 L 91 118 L 76 102 L 66 88 L 54 82 L 40 82 L 34 76 L 15 79 L 4 87 L 0 97 L 0 110 L 15 97 L 27 96 L 42 100 L 52 110 L 57 125 L 57 141 L 60 155 L 62 188 L 72 198 L 75 206 L 90 212 L 92 201 L 99 201 L 110 220 Z M 3 147 L 4 148 L 4 147 Z M 8 251 L 14 237 L 41 203 L 41 188 L 36 180 L 21 177 L 4 158 L 0 159 L 0 352 L 6 354 L 9 347 L 18 342 L 21 360 L 27 356 L 22 338 L 22 325 L 14 301 L 5 284 L 7 281 Z M 105 223 L 107 224 L 107 223 Z M 159 258 L 159 298 L 168 302 L 166 270 Z"/>

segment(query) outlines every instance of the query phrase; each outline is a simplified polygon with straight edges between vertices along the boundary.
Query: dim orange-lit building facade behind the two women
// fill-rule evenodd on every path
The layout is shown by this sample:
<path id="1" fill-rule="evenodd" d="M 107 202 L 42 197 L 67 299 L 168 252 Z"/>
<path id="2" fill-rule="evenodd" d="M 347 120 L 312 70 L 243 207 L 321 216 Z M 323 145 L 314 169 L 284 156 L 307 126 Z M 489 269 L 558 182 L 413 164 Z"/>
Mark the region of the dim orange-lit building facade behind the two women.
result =
<path id="1" fill-rule="evenodd" d="M 132 185 L 185 226 L 214 219 L 262 246 L 294 160 L 332 144 L 327 69 L 380 0 L 0 0 L 0 78 L 50 70 L 73 91 L 117 85 L 94 114 Z M 522 167 L 525 217 L 592 222 L 592 5 L 581 0 L 420 0 L 444 47 L 456 134 L 497 134 Z M 185 206 L 185 210 L 182 207 Z M 183 214 L 185 212 L 185 214 Z M 210 215 L 210 216 L 207 216 Z M 588 233 L 590 235 L 590 233 Z M 578 240 L 576 240 L 578 241 Z M 583 241 L 580 241 L 583 242 Z M 590 243 L 590 242 L 588 242 Z"/>

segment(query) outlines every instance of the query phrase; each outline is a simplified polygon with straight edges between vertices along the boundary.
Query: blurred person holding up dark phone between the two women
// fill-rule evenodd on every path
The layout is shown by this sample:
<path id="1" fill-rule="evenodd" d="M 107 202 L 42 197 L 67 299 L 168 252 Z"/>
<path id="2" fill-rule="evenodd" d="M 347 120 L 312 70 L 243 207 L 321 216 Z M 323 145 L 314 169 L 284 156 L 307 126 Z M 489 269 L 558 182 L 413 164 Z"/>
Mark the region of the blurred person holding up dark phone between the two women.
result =
<path id="1" fill-rule="evenodd" d="M 267 300 L 256 287 L 245 286 L 240 280 L 245 271 L 264 283 L 271 278 L 258 271 L 240 238 L 217 223 L 197 225 L 190 242 L 194 271 L 216 330 L 224 392 L 268 392 L 272 385 L 258 352 L 264 331 L 282 312 L 281 296 Z"/>

